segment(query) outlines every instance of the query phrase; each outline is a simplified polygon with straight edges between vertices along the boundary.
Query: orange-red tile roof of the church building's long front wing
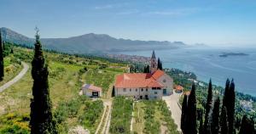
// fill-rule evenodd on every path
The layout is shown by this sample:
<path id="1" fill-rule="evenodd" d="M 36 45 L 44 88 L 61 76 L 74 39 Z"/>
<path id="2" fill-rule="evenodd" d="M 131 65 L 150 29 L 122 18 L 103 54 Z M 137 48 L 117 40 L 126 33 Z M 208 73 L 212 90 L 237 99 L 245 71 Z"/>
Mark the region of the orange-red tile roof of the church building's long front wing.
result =
<path id="1" fill-rule="evenodd" d="M 163 85 L 155 81 L 149 73 L 133 73 L 117 75 L 115 87 L 119 88 L 136 88 L 136 87 L 163 87 Z"/>

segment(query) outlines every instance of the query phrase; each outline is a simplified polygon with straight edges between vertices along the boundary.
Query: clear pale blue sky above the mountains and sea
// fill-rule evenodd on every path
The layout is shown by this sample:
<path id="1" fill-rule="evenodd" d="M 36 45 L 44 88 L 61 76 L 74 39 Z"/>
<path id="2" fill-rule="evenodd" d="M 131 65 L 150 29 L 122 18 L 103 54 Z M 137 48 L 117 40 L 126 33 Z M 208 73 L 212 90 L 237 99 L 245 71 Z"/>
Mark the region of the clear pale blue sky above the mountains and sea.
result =
<path id="1" fill-rule="evenodd" d="M 1 0 L 0 27 L 33 37 L 108 34 L 131 40 L 256 46 L 255 0 Z"/>

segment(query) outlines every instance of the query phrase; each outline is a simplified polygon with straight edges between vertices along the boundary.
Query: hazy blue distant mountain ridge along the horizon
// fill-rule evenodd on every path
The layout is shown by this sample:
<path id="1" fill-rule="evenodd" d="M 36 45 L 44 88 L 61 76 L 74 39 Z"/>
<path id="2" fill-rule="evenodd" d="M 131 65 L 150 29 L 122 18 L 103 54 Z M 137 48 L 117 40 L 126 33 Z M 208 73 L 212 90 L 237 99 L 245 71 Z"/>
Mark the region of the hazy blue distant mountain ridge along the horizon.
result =
<path id="1" fill-rule="evenodd" d="M 8 28 L 1 28 L 3 39 L 8 42 L 32 46 L 34 39 L 23 36 Z M 113 53 L 118 51 L 141 51 L 186 47 L 183 42 L 138 41 L 117 39 L 105 34 L 84 34 L 68 38 L 42 38 L 44 48 L 65 53 Z"/>

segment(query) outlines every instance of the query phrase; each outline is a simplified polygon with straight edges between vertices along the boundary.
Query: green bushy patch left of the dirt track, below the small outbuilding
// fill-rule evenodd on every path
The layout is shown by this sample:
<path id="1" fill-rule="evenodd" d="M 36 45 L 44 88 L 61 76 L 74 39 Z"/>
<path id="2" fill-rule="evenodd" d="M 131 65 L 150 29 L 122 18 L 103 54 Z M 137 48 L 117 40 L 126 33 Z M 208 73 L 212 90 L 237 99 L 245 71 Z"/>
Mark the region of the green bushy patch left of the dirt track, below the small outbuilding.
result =
<path id="1" fill-rule="evenodd" d="M 68 121 L 70 120 L 77 122 L 76 124 L 84 126 L 91 133 L 94 133 L 102 112 L 102 100 L 91 101 L 90 98 L 81 96 L 59 103 L 54 115 L 60 133 L 67 133 L 68 128 L 70 128 L 68 126 Z"/>

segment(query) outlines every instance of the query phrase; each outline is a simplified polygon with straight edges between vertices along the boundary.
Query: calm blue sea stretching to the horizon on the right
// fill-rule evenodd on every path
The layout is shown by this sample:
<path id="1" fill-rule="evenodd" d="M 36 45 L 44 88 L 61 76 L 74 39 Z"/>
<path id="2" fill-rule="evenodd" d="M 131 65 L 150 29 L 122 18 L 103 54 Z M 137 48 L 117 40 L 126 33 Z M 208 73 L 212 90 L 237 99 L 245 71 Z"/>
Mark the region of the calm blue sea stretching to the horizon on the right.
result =
<path id="1" fill-rule="evenodd" d="M 247 53 L 248 56 L 221 58 L 220 53 Z M 120 52 L 149 57 L 151 51 Z M 236 90 L 256 96 L 256 48 L 181 48 L 155 51 L 165 68 L 192 71 L 201 81 L 224 87 L 227 78 L 234 78 Z"/>

